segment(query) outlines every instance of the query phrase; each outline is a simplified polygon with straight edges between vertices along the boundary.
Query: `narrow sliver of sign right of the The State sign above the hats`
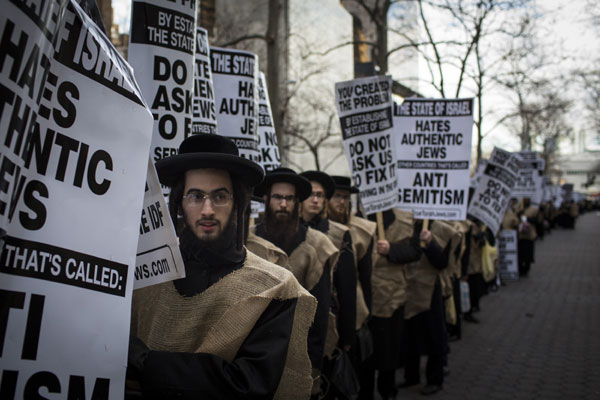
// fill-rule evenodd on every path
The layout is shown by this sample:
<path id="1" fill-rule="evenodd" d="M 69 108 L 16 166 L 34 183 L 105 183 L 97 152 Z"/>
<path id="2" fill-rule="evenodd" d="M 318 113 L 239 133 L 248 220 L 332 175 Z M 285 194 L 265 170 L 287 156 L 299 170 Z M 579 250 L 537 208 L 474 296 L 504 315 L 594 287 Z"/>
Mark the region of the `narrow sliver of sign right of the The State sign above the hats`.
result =
<path id="1" fill-rule="evenodd" d="M 281 166 L 267 81 L 262 72 L 258 78 L 258 150 L 260 152 L 258 164 L 263 167 L 265 172 Z"/>

